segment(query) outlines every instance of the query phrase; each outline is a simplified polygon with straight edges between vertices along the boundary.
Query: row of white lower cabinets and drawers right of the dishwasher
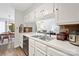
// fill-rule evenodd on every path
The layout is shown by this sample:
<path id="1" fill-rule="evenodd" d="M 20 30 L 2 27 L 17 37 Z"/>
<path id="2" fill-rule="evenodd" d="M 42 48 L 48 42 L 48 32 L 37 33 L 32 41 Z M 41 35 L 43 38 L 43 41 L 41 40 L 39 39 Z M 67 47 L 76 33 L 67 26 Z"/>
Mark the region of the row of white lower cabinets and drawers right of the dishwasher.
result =
<path id="1" fill-rule="evenodd" d="M 32 42 L 29 43 L 29 56 L 69 56 L 69 55 L 53 47 L 49 47 L 38 41 L 32 40 Z"/>

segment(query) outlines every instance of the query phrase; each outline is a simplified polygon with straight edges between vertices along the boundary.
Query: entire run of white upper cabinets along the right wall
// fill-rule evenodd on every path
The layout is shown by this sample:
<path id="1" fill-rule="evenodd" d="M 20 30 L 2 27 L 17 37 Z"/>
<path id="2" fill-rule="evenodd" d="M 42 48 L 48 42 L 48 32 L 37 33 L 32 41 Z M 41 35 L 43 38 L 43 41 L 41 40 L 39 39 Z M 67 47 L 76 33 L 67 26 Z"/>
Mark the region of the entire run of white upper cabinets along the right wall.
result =
<path id="1" fill-rule="evenodd" d="M 37 21 L 40 18 L 53 17 L 58 25 L 79 23 L 79 4 L 44 3 L 25 15 L 25 21 Z"/>

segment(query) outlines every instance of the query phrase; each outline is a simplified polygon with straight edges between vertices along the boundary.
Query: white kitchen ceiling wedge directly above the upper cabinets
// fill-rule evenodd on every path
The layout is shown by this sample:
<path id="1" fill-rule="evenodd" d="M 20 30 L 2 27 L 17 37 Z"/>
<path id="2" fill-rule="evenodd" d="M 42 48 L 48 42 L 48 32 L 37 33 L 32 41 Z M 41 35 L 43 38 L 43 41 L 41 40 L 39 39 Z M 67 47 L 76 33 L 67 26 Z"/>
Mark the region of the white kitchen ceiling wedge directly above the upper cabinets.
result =
<path id="1" fill-rule="evenodd" d="M 42 3 L 10 3 L 12 7 L 20 11 L 32 10 Z"/>

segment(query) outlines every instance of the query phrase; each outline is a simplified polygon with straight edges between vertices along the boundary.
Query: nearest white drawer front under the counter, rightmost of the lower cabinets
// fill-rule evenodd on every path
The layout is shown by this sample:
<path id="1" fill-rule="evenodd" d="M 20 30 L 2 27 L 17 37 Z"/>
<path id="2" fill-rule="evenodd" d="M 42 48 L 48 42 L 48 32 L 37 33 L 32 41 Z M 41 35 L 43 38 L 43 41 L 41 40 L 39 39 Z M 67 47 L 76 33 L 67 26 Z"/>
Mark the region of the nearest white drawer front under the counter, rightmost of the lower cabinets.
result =
<path id="1" fill-rule="evenodd" d="M 47 55 L 50 55 L 50 56 L 68 56 L 67 54 L 61 52 L 61 51 L 58 51 L 56 49 L 53 49 L 53 48 L 50 48 L 50 47 L 47 47 Z"/>

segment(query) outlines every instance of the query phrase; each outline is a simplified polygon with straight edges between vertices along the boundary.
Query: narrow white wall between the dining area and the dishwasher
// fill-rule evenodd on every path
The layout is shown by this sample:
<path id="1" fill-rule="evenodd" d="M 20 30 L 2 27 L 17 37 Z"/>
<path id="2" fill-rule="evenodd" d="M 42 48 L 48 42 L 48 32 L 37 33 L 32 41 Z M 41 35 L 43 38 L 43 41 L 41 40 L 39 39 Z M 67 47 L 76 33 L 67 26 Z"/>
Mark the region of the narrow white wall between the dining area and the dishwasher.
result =
<path id="1" fill-rule="evenodd" d="M 21 35 L 19 33 L 19 25 L 23 24 L 23 12 L 19 10 L 15 10 L 15 42 L 14 47 L 22 46 L 23 40 L 21 39 Z"/>

